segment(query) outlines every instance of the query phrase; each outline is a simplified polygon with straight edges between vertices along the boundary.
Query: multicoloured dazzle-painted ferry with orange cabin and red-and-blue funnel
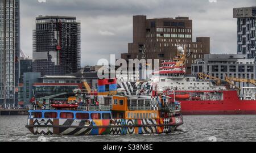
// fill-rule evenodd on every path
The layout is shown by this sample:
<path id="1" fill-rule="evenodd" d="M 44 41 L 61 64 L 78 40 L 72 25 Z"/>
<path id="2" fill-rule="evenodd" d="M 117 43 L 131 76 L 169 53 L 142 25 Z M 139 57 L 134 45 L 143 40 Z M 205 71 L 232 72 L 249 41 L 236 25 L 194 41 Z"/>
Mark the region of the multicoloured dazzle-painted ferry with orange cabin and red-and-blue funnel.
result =
<path id="1" fill-rule="evenodd" d="M 89 95 L 75 90 L 68 101 L 50 104 L 50 97 L 44 97 L 35 102 L 26 128 L 44 135 L 160 134 L 183 124 L 180 103 L 170 96 L 118 94 L 116 79 L 98 80 L 98 84 L 98 92 L 87 90 Z"/>

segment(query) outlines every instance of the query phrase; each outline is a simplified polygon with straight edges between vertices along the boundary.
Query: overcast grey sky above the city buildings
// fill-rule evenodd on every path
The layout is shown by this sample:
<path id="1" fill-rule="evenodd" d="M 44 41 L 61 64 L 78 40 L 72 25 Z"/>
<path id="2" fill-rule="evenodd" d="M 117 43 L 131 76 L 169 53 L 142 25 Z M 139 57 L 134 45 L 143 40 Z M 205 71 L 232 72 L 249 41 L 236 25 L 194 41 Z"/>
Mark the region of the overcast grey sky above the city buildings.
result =
<path id="1" fill-rule="evenodd" d="M 211 53 L 236 53 L 233 7 L 253 5 L 255 0 L 20 0 L 21 49 L 32 57 L 36 16 L 76 16 L 81 22 L 82 65 L 95 65 L 110 54 L 119 58 L 120 53 L 127 53 L 127 43 L 133 41 L 133 15 L 147 15 L 189 16 L 193 41 L 209 36 Z"/>

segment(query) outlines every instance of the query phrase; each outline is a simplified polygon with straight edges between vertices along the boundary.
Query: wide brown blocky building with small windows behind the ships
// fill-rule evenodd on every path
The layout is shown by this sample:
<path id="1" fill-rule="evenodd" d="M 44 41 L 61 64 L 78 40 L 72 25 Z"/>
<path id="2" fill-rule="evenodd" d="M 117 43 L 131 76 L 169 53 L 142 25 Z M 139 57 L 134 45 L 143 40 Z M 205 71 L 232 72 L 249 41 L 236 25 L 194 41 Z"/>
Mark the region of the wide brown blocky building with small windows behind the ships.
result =
<path id="1" fill-rule="evenodd" d="M 144 15 L 133 16 L 133 43 L 128 44 L 128 53 L 121 54 L 121 58 L 128 61 L 144 56 L 145 59 L 159 59 L 162 62 L 174 58 L 180 45 L 185 51 L 193 52 L 187 63 L 190 74 L 191 64 L 210 53 L 210 38 L 197 37 L 193 42 L 192 29 L 192 20 L 188 17 L 147 19 Z M 144 55 L 143 46 L 146 48 Z"/>

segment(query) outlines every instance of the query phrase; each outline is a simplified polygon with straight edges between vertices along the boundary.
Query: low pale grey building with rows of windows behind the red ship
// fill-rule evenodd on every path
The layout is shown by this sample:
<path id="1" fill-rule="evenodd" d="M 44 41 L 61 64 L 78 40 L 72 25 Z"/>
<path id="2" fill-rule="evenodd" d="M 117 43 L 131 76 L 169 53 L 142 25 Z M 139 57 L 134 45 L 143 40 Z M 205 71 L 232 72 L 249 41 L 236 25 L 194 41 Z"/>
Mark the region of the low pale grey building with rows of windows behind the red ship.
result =
<path id="1" fill-rule="evenodd" d="M 234 78 L 256 79 L 256 65 L 254 59 L 246 59 L 240 54 L 206 54 L 192 64 L 192 74 L 209 74 L 222 80 L 225 75 Z"/>

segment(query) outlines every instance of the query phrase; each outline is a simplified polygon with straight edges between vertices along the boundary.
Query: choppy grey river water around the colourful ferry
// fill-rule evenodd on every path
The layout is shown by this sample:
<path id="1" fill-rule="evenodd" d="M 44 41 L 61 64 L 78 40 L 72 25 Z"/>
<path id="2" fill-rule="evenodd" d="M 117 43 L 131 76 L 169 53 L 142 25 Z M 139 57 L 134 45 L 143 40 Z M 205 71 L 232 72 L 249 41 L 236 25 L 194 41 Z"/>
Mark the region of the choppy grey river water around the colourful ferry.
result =
<path id="1" fill-rule="evenodd" d="M 256 141 L 256 116 L 184 116 L 184 125 L 171 134 L 147 135 L 49 135 L 44 141 L 158 142 L 158 141 Z M 27 116 L 0 116 L 0 141 L 39 141 L 24 126 Z"/>

